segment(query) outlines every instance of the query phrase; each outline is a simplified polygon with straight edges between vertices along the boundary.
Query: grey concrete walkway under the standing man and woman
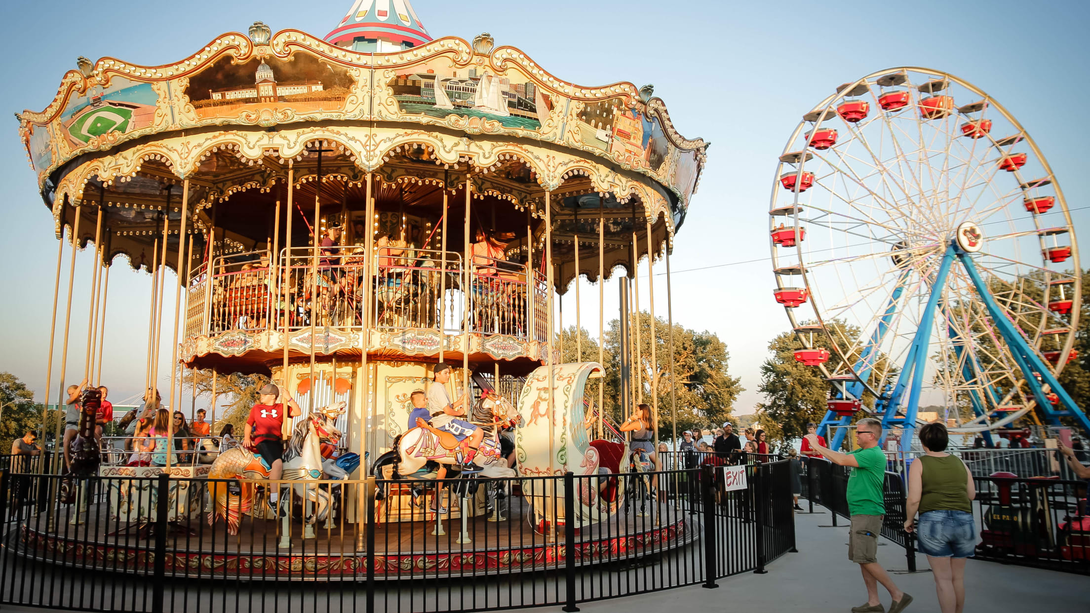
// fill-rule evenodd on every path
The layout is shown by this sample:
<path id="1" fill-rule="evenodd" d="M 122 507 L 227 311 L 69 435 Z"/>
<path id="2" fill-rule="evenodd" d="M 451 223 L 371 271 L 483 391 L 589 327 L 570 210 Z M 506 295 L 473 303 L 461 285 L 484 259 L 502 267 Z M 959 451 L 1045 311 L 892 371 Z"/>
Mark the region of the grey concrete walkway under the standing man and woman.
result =
<path id="1" fill-rule="evenodd" d="M 847 521 L 838 528 L 828 513 L 797 515 L 799 553 L 768 565 L 766 575 L 747 573 L 720 579 L 717 589 L 678 588 L 661 592 L 580 604 L 586 613 L 658 613 L 662 611 L 779 613 L 848 613 L 867 601 L 859 568 L 848 562 Z M 912 594 L 909 613 L 938 613 L 935 584 L 928 558 L 917 554 L 919 572 L 907 574 L 905 550 L 884 541 L 879 561 L 896 573 L 894 581 Z M 888 610 L 889 596 L 879 588 Z M 970 560 L 966 566 L 966 613 L 1062 613 L 1090 610 L 1090 577 Z M 559 611 L 559 608 L 520 609 Z"/>

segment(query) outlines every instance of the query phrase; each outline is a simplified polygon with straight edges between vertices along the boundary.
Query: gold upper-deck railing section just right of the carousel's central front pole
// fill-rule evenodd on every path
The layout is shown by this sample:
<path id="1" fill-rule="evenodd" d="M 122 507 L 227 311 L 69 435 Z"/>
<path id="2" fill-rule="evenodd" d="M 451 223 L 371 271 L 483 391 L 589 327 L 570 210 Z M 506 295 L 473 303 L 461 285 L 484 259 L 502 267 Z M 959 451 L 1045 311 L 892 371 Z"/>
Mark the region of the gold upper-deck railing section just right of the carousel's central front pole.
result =
<path id="1" fill-rule="evenodd" d="M 460 253 L 448 251 L 444 264 L 441 251 L 384 247 L 378 250 L 377 263 L 373 305 L 376 328 L 441 327 L 447 334 L 462 330 L 465 299 Z"/>

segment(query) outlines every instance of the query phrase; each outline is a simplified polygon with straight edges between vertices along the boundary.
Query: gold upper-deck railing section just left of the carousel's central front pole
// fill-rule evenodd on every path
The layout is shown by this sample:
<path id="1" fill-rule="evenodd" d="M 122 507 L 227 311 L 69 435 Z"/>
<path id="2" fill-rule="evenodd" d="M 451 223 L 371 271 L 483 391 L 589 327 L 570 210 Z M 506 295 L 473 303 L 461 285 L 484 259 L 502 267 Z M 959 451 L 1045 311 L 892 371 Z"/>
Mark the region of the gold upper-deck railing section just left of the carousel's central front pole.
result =
<path id="1" fill-rule="evenodd" d="M 312 323 L 341 329 L 363 327 L 366 259 L 361 249 L 352 248 L 352 252 L 349 249 L 343 248 L 340 255 L 318 255 L 316 285 L 314 248 L 293 247 L 280 252 L 280 286 L 274 301 L 278 328 L 283 327 L 286 312 L 289 330 Z"/>

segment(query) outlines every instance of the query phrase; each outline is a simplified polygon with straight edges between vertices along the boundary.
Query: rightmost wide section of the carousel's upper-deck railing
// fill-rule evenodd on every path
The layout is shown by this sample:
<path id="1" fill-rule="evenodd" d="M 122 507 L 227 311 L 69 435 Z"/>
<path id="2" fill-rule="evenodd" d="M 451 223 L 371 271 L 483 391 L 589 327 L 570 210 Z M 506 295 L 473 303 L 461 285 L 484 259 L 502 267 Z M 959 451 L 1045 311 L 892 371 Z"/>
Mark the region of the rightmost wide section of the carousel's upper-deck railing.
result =
<path id="1" fill-rule="evenodd" d="M 526 267 L 484 255 L 474 255 L 471 264 L 470 330 L 529 339 Z"/>

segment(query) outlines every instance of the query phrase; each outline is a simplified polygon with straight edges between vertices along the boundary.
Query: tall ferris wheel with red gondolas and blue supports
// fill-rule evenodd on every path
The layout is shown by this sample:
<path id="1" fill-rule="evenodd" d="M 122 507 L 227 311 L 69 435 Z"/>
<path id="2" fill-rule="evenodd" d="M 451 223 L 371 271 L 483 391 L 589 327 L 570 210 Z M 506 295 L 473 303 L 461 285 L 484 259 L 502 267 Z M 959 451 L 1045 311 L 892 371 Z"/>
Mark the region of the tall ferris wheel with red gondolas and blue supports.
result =
<path id="1" fill-rule="evenodd" d="M 1056 381 L 1081 297 L 1067 203 L 983 91 L 921 68 L 837 87 L 779 157 L 770 225 L 795 358 L 831 383 L 821 431 L 870 413 L 906 450 L 922 411 L 988 438 L 1024 418 L 1090 431 Z"/>

